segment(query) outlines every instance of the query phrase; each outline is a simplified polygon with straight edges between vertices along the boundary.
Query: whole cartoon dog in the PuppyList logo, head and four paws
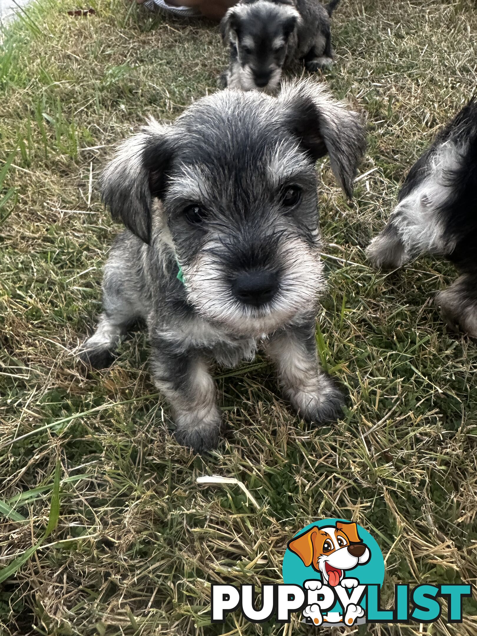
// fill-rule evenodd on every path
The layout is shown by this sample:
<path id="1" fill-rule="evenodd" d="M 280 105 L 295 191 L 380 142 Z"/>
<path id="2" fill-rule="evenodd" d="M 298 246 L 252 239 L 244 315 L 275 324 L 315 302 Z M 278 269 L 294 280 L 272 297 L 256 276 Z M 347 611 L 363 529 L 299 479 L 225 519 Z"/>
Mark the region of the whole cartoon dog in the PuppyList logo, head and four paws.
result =
<path id="1" fill-rule="evenodd" d="M 371 558 L 370 549 L 359 537 L 356 523 L 350 522 L 336 522 L 334 527 L 315 526 L 291 539 L 288 542 L 288 548 L 300 556 L 306 567 L 311 565 L 321 574 L 321 581 L 305 581 L 305 588 L 314 592 L 322 591 L 323 585 L 356 588 L 359 581 L 354 578 L 345 578 L 345 572 L 357 565 L 368 563 Z M 305 607 L 303 616 L 310 619 L 316 626 L 321 625 L 323 621 L 333 623 L 343 621 L 346 625 L 352 625 L 356 619 L 364 616 L 363 607 L 352 602 L 344 608 L 344 616 L 341 619 L 336 620 L 334 616 L 336 613 L 329 612 L 328 616 L 322 616 L 319 605 L 313 603 Z"/>

